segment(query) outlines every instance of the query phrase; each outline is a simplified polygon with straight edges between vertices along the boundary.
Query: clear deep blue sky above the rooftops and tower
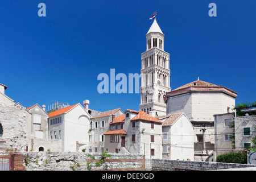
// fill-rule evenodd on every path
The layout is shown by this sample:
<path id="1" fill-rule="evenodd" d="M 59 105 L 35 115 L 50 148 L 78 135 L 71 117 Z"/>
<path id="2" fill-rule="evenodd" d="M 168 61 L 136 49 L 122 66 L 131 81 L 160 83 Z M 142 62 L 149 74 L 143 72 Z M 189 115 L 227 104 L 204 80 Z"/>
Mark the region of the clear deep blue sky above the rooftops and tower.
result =
<path id="1" fill-rule="evenodd" d="M 38 4 L 46 4 L 46 17 Z M 209 3 L 217 5 L 210 17 Z M 255 101 L 255 0 L 0 1 L 0 83 L 25 107 L 90 100 L 90 109 L 138 110 L 140 94 L 99 94 L 100 73 L 139 73 L 156 19 L 170 53 L 171 88 L 200 80 Z M 118 81 L 117 81 L 118 82 Z"/>

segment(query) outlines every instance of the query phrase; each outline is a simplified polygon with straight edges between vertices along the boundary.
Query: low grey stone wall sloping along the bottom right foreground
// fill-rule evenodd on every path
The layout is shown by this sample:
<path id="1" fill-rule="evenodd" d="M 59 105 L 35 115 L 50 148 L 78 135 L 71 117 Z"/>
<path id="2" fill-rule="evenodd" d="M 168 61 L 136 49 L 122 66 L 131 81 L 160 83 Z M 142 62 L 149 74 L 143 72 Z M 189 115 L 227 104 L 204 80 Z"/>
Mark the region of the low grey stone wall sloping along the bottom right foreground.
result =
<path id="1" fill-rule="evenodd" d="M 151 160 L 151 167 L 146 166 L 146 169 L 153 171 L 175 171 L 175 169 L 187 169 L 197 171 L 212 171 L 220 169 L 248 168 L 256 167 L 249 164 L 232 164 L 232 163 L 215 163 L 215 162 L 195 162 L 186 160 L 161 160 L 161 159 L 146 159 Z M 150 162 L 146 162 L 148 164 Z"/>

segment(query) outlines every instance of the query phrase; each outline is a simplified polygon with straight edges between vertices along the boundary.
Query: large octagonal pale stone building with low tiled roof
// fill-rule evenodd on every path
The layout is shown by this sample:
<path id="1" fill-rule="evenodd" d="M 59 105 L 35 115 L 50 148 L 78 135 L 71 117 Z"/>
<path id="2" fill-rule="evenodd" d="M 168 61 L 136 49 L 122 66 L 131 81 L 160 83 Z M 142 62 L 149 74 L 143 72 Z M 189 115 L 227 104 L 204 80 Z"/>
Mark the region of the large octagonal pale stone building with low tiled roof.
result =
<path id="1" fill-rule="evenodd" d="M 184 112 L 195 129 L 197 160 L 214 159 L 214 114 L 229 113 L 237 93 L 209 82 L 193 81 L 166 94 L 167 114 Z"/>

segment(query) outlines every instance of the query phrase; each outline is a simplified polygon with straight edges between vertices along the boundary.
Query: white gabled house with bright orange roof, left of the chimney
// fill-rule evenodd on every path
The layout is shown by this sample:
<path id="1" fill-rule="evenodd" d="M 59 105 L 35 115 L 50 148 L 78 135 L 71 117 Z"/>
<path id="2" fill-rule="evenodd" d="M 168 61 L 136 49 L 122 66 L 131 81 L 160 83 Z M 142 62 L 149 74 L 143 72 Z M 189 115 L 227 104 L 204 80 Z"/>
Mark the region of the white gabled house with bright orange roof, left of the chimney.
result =
<path id="1" fill-rule="evenodd" d="M 61 151 L 79 152 L 88 148 L 90 114 L 80 104 L 49 113 L 49 139 L 61 139 Z"/>

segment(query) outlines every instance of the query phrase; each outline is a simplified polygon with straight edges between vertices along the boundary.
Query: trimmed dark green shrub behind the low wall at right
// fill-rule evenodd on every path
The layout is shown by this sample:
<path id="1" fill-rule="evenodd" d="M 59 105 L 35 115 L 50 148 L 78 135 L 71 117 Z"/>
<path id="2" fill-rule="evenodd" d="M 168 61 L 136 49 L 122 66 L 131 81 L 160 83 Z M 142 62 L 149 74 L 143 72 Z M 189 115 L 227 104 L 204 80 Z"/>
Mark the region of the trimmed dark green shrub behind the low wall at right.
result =
<path id="1" fill-rule="evenodd" d="M 230 152 L 228 154 L 221 154 L 217 156 L 217 162 L 247 164 L 247 154 L 246 152 Z"/>

